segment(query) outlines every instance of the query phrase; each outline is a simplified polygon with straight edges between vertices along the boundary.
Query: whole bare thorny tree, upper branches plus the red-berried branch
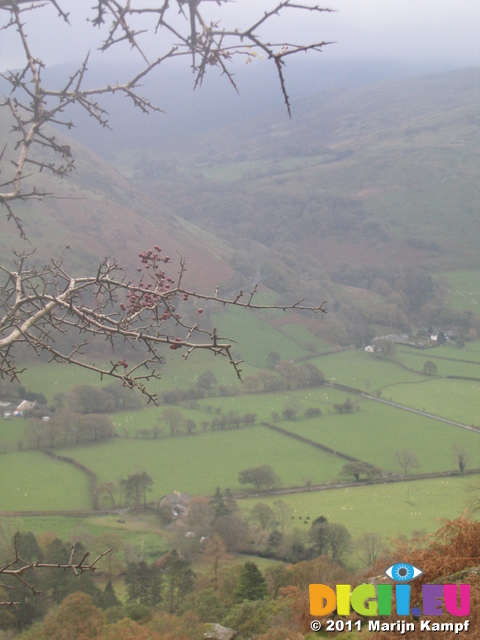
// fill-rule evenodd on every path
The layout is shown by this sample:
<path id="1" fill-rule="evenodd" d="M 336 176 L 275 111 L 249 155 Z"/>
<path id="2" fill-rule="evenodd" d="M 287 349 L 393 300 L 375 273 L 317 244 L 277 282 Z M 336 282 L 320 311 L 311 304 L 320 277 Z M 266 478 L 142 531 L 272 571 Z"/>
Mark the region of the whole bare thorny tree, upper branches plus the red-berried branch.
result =
<path id="1" fill-rule="evenodd" d="M 148 97 L 140 93 L 145 77 L 168 59 L 187 56 L 194 72 L 194 83 L 200 85 L 207 70 L 217 68 L 236 88 L 231 62 L 238 57 L 251 60 L 263 56 L 278 74 L 280 89 L 290 112 L 285 87 L 284 66 L 288 56 L 308 50 L 320 51 L 326 42 L 269 42 L 261 32 L 279 16 L 288 12 L 307 13 L 312 17 L 329 9 L 309 2 L 283 0 L 262 11 L 259 17 L 242 28 L 224 24 L 228 0 L 96 0 L 90 9 L 92 28 L 99 29 L 99 50 L 115 52 L 124 45 L 138 59 L 138 69 L 127 82 L 89 86 L 89 54 L 83 63 L 65 79 L 63 86 L 53 88 L 45 80 L 45 64 L 34 51 L 30 39 L 34 28 L 32 15 L 55 12 L 59 21 L 69 23 L 68 3 L 63 0 L 0 0 L 0 30 L 16 36 L 17 53 L 24 60 L 22 68 L 4 72 L 10 86 L 9 95 L 0 101 L 13 122 L 6 144 L 0 147 L 0 205 L 6 219 L 16 225 L 20 236 L 30 246 L 28 222 L 18 213 L 21 202 L 54 197 L 39 186 L 37 172 L 59 178 L 75 168 L 69 144 L 59 140 L 52 126 L 70 129 L 72 107 L 80 108 L 100 126 L 108 126 L 108 114 L 101 105 L 102 97 L 121 94 L 144 113 L 159 111 Z M 74 28 L 72 26 L 72 28 Z M 148 38 L 154 36 L 152 45 Z M 152 46 L 154 55 L 151 55 Z M 6 224 L 4 221 L 3 224 Z M 101 375 L 120 379 L 128 387 L 137 387 L 155 400 L 145 381 L 158 378 L 158 365 L 166 349 L 181 349 L 183 357 L 197 349 L 226 356 L 240 377 L 240 361 L 231 352 L 231 340 L 215 329 L 200 324 L 203 308 L 198 308 L 195 321 L 182 319 L 177 308 L 182 301 L 196 300 L 218 305 L 235 305 L 248 309 L 277 308 L 324 312 L 324 302 L 305 306 L 303 301 L 288 305 L 256 304 L 256 288 L 240 291 L 227 299 L 218 291 L 201 294 L 184 283 L 185 262 L 178 257 L 175 273 L 169 256 L 159 247 L 146 248 L 139 256 L 139 275 L 133 278 L 115 258 L 104 259 L 90 274 L 72 273 L 65 256 L 46 266 L 34 261 L 32 251 L 14 254 L 8 264 L 0 266 L 0 375 L 16 379 L 19 374 L 16 357 L 21 345 L 51 360 L 86 367 Z M 67 338 L 65 338 L 67 336 Z M 62 338 L 62 340 L 60 340 Z M 121 346 L 122 357 L 108 366 L 88 362 L 85 349 L 95 338 L 110 346 Z M 68 344 L 67 348 L 61 345 Z M 130 350 L 128 350 L 130 349 Z M 113 353 L 113 351 L 112 351 Z M 118 350 L 116 350 L 118 353 Z M 123 353 L 130 354 L 123 357 Z M 132 355 L 133 353 L 133 355 Z M 140 353 L 142 355 L 140 355 Z"/>

